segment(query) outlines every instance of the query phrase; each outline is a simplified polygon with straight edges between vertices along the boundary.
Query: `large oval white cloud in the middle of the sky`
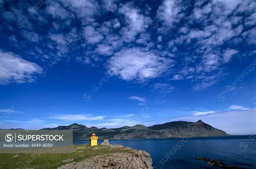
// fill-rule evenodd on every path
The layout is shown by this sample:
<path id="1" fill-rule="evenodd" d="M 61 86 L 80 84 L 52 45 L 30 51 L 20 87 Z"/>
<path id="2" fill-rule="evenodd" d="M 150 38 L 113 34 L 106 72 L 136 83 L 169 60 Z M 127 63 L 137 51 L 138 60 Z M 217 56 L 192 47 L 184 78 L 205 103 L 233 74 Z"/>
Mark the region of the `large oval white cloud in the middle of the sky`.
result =
<path id="1" fill-rule="evenodd" d="M 126 59 L 123 65 L 115 68 L 119 61 Z M 107 62 L 109 71 L 114 67 L 113 73 L 123 80 L 137 80 L 144 82 L 147 79 L 161 76 L 173 66 L 174 61 L 160 57 L 150 51 L 143 51 L 140 48 L 124 48 L 116 52 Z"/>

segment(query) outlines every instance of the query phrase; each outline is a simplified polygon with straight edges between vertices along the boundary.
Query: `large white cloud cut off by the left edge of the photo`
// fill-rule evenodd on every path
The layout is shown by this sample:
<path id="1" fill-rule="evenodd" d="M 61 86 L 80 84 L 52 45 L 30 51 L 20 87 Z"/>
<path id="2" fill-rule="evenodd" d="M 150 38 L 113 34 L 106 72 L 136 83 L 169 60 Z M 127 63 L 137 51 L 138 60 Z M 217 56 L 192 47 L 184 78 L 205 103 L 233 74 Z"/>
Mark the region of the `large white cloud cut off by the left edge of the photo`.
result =
<path id="1" fill-rule="evenodd" d="M 0 50 L 0 84 L 32 83 L 41 67 L 11 52 Z"/>

